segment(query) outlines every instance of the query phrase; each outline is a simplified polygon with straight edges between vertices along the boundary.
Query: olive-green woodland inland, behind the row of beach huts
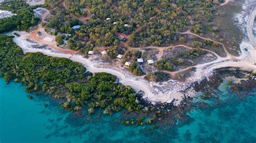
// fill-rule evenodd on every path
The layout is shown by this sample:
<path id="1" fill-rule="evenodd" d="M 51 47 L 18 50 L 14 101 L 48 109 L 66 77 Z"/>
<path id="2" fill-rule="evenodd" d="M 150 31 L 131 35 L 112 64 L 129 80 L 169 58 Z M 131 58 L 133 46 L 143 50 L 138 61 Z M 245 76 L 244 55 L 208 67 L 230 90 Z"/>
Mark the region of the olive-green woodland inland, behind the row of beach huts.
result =
<path id="1" fill-rule="evenodd" d="M 177 32 L 183 32 L 192 26 L 195 33 L 217 32 L 207 22 L 214 18 L 214 8 L 218 1 L 65 1 L 68 9 L 63 8 L 63 1 L 47 1 L 56 22 L 55 30 L 72 34 L 70 44 L 81 43 L 76 49 L 96 46 L 117 46 L 121 42 L 118 33 L 128 35 L 131 47 L 169 46 L 180 38 Z M 92 13 L 86 24 L 80 23 L 79 30 L 72 30 L 72 22 L 79 17 Z M 193 15 L 194 22 L 190 22 Z M 106 20 L 106 18 L 111 18 Z M 48 24 L 49 25 L 49 24 Z M 126 25 L 126 26 L 125 26 Z M 53 26 L 48 26 L 53 27 Z M 68 46 L 72 47 L 72 46 Z"/>

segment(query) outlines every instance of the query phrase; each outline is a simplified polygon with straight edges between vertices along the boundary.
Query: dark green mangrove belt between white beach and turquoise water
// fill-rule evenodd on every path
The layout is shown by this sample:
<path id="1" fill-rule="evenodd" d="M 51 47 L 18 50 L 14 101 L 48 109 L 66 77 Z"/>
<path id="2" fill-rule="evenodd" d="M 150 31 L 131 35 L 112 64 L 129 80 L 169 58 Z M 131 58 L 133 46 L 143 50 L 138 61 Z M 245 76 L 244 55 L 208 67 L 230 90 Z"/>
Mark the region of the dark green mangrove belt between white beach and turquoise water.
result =
<path id="1" fill-rule="evenodd" d="M 0 35 L 0 71 L 6 83 L 14 80 L 26 85 L 26 91 L 43 91 L 63 99 L 63 108 L 78 110 L 89 107 L 89 113 L 103 109 L 111 114 L 123 108 L 139 111 L 138 94 L 116 82 L 107 73 L 91 74 L 80 63 L 53 58 L 41 53 L 26 53 L 11 37 Z"/>

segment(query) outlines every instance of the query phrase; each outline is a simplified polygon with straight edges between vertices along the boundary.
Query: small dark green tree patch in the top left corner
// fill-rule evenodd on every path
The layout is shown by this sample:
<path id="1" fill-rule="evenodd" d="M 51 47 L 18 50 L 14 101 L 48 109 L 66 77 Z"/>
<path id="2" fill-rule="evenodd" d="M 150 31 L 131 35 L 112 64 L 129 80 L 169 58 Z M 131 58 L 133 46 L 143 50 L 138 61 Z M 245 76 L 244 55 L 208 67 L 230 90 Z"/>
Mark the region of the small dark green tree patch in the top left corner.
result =
<path id="1" fill-rule="evenodd" d="M 19 30 L 28 31 L 30 26 L 35 26 L 40 20 L 33 15 L 33 9 L 37 6 L 29 6 L 25 2 L 3 2 L 0 5 L 0 9 L 9 10 L 16 15 L 0 19 L 0 33 Z"/>

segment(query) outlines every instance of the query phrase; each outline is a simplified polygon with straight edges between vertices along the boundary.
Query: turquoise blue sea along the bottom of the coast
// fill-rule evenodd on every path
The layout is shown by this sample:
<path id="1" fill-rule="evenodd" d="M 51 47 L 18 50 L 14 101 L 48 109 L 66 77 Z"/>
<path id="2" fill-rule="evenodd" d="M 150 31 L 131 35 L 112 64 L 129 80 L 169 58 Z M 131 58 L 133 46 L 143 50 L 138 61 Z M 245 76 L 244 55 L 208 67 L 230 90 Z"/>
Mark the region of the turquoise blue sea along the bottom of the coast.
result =
<path id="1" fill-rule="evenodd" d="M 24 86 L 0 78 L 0 142 L 255 142 L 255 92 L 239 100 L 226 83 L 220 87 L 215 96 L 224 102 L 207 101 L 212 105 L 189 113 L 190 124 L 165 130 L 122 125 L 120 113 L 76 118 L 49 97 L 29 99 Z"/>

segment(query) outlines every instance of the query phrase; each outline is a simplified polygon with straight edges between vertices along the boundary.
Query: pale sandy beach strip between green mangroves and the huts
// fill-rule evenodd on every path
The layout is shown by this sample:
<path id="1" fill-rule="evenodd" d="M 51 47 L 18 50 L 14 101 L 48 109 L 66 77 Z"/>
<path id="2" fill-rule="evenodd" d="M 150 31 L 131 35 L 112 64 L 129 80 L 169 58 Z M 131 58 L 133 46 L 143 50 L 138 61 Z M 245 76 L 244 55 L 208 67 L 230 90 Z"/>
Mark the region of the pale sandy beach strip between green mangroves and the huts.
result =
<path id="1" fill-rule="evenodd" d="M 242 61 L 225 61 L 225 58 L 218 60 L 218 61 L 212 61 L 209 63 L 204 63 L 201 65 L 197 65 L 197 71 L 194 73 L 193 76 L 186 79 L 185 82 L 179 82 L 170 80 L 168 82 L 164 82 L 162 84 L 169 84 L 173 85 L 171 87 L 172 89 L 169 89 L 167 92 L 161 92 L 154 88 L 157 83 L 149 83 L 146 80 L 144 80 L 143 77 L 135 77 L 129 73 L 125 73 L 122 69 L 117 69 L 118 67 L 104 67 L 102 66 L 102 62 L 93 61 L 92 58 L 86 59 L 82 55 L 78 54 L 68 54 L 63 52 L 56 52 L 53 49 L 38 49 L 38 48 L 32 48 L 31 43 L 26 41 L 26 35 L 28 33 L 26 32 L 17 32 L 18 34 L 21 34 L 21 37 L 15 37 L 14 42 L 23 49 L 23 52 L 41 52 L 45 55 L 49 56 L 56 56 L 59 58 L 67 58 L 75 62 L 82 63 L 83 66 L 87 68 L 92 73 L 99 73 L 99 72 L 105 72 L 109 74 L 113 74 L 119 78 L 119 82 L 124 85 L 129 85 L 132 88 L 134 88 L 136 91 L 142 90 L 144 91 L 143 98 L 147 101 L 151 102 L 152 104 L 155 104 L 157 102 L 161 103 L 171 103 L 173 99 L 176 99 L 175 104 L 178 105 L 180 101 L 184 98 L 184 94 L 182 94 L 182 91 L 190 88 L 194 83 L 200 82 L 204 78 L 207 78 L 212 75 L 213 71 L 218 68 L 223 67 L 239 67 L 244 70 L 251 70 L 254 69 L 256 71 L 256 66 L 252 65 L 252 63 L 248 62 L 247 60 Z M 36 45 L 36 44 L 32 44 Z M 243 43 L 241 46 L 248 45 L 246 43 Z M 242 54 L 241 59 L 246 59 L 245 53 Z M 171 91 L 170 91 L 171 90 Z M 186 96 L 193 96 L 194 93 L 190 92 L 187 93 Z"/>

